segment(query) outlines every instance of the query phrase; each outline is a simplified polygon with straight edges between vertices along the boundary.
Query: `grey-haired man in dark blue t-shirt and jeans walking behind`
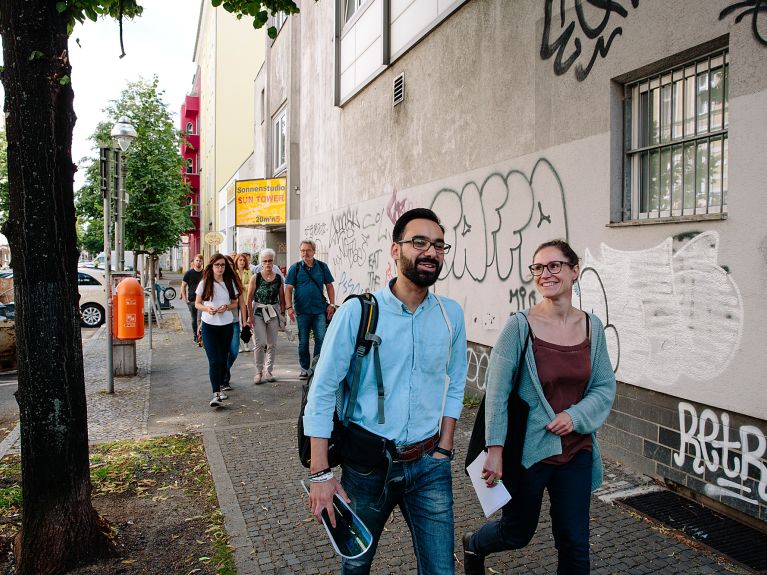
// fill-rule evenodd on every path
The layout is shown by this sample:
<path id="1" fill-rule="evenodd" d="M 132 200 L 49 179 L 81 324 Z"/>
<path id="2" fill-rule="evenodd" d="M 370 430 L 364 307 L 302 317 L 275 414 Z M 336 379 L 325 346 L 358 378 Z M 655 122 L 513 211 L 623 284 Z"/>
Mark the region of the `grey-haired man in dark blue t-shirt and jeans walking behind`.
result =
<path id="1" fill-rule="evenodd" d="M 298 325 L 298 363 L 301 366 L 300 379 L 309 377 L 312 356 L 309 355 L 309 333 L 314 332 L 314 356 L 322 351 L 325 330 L 336 311 L 333 302 L 336 292 L 333 288 L 333 274 L 328 264 L 314 258 L 317 245 L 312 240 L 303 240 L 299 246 L 301 261 L 294 263 L 285 278 L 285 308 L 291 321 Z M 325 299 L 327 290 L 328 298 Z"/>

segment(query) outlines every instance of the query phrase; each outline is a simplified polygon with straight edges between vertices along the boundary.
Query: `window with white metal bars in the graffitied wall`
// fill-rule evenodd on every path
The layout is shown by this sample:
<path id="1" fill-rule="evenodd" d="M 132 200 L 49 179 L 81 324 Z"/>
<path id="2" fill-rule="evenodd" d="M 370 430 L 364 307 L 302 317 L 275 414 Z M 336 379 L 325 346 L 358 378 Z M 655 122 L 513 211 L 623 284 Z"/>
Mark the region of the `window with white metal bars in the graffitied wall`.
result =
<path id="1" fill-rule="evenodd" d="M 625 86 L 624 220 L 727 211 L 729 54 Z"/>

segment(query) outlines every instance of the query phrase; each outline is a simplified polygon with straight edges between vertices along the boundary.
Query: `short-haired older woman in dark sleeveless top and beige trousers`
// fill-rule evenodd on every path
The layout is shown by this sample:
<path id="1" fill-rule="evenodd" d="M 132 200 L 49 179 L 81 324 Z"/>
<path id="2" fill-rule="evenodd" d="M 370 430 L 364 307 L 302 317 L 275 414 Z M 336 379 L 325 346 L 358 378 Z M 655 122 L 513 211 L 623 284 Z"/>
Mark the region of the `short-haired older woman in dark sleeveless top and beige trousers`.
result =
<path id="1" fill-rule="evenodd" d="M 248 323 L 256 339 L 256 376 L 253 383 L 276 381 L 272 370 L 277 353 L 277 332 L 285 323 L 285 290 L 282 277 L 274 271 L 274 250 L 261 250 L 261 271 L 248 284 Z M 264 362 L 264 359 L 266 362 Z M 266 371 L 264 371 L 266 370 Z"/>

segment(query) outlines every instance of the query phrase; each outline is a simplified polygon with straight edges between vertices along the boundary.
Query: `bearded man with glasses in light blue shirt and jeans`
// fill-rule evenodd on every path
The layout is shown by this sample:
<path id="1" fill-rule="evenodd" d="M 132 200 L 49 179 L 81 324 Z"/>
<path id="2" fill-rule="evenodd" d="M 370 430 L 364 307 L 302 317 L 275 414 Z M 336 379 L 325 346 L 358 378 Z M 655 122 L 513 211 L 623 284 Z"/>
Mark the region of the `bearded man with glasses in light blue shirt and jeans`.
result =
<path id="1" fill-rule="evenodd" d="M 392 240 L 398 275 L 374 294 L 378 365 L 374 353 L 353 360 L 364 306 L 350 301 L 330 324 L 309 387 L 303 417 L 311 445 L 309 507 L 317 521 L 327 513 L 335 527 L 337 494 L 372 533 L 372 544 L 362 555 L 343 556 L 342 574 L 370 572 L 384 525 L 399 506 L 412 535 L 418 573 L 444 575 L 454 572 L 450 462 L 466 385 L 463 310 L 454 300 L 429 292 L 450 250 L 433 211 L 404 213 Z M 339 382 L 349 379 L 358 385 L 352 398 L 342 383 L 338 414 L 349 417 L 340 443 L 339 482 L 330 469 L 328 440 Z"/>

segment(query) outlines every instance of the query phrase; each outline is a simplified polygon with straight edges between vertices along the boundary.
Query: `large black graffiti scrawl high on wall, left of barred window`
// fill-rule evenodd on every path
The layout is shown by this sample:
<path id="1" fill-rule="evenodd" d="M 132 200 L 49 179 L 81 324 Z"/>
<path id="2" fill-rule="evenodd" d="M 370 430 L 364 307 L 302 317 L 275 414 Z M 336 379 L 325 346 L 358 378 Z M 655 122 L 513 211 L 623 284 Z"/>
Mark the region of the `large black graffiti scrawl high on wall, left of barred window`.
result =
<path id="1" fill-rule="evenodd" d="M 566 2 L 560 0 L 559 36 L 556 38 L 553 38 L 556 32 L 552 30 L 553 4 L 554 0 L 546 0 L 544 6 L 541 58 L 548 60 L 554 56 L 554 73 L 557 76 L 565 74 L 575 64 L 575 77 L 582 82 L 591 72 L 597 57 L 607 56 L 613 40 L 623 33 L 623 28 L 616 22 L 620 22 L 618 18 L 628 16 L 629 2 L 589 0 L 584 3 L 583 0 L 575 0 L 575 18 L 568 22 Z M 636 8 L 639 0 L 630 0 L 630 4 Z"/>

